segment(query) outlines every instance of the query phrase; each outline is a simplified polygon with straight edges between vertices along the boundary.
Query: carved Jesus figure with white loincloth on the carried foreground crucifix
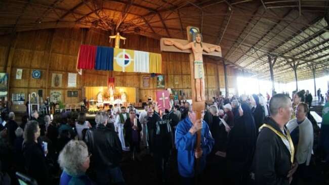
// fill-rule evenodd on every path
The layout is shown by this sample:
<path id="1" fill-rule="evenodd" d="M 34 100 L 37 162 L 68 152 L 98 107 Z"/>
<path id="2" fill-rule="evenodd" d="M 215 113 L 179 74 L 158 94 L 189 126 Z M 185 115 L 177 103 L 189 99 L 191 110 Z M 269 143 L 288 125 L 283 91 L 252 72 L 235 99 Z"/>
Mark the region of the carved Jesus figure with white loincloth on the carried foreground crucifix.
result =
<path id="1" fill-rule="evenodd" d="M 203 71 L 203 59 L 202 52 L 205 51 L 207 53 L 211 53 L 214 51 L 221 51 L 219 46 L 208 48 L 205 45 L 202 45 L 202 35 L 201 33 L 193 33 L 192 42 L 183 45 L 177 41 L 167 39 L 164 40 L 163 43 L 166 45 L 174 45 L 176 48 L 180 50 L 188 50 L 191 49 L 194 56 L 194 78 L 195 78 L 195 88 L 196 88 L 196 101 L 205 101 L 204 97 L 204 71 Z"/>

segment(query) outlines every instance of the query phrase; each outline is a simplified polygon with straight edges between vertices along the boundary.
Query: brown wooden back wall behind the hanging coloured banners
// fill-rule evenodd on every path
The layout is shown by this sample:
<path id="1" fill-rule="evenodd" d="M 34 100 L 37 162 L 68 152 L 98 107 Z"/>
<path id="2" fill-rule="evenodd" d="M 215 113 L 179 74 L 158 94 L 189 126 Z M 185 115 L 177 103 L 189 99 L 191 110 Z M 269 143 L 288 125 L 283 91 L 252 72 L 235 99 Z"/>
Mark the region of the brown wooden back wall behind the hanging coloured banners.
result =
<path id="1" fill-rule="evenodd" d="M 51 90 L 60 90 L 64 103 L 77 103 L 85 97 L 85 86 L 106 86 L 107 77 L 115 77 L 115 85 L 135 87 L 136 99 L 146 101 L 147 97 L 155 98 L 156 77 L 150 77 L 150 86 L 143 87 L 143 76 L 146 73 L 122 73 L 112 71 L 84 70 L 83 75 L 77 75 L 76 87 L 67 87 L 68 73 L 76 73 L 76 59 L 79 45 L 105 45 L 113 47 L 108 42 L 109 32 L 98 29 L 61 28 L 19 32 L 16 35 L 0 36 L 0 72 L 8 72 L 9 95 L 24 92 L 27 97 L 30 92 L 43 89 L 43 97 L 50 96 Z M 159 40 L 139 35 L 125 35 L 126 44 L 120 48 L 160 53 Z M 23 69 L 22 79 L 16 79 L 16 70 Z M 33 69 L 42 71 L 40 79 L 33 79 Z M 235 70 L 228 68 L 229 87 L 235 87 Z M 165 75 L 165 87 L 182 90 L 191 96 L 190 70 L 188 55 L 181 53 L 162 53 L 162 71 Z M 204 57 L 206 97 L 219 95 L 219 87 L 225 87 L 223 64 Z M 53 73 L 63 75 L 62 86 L 52 87 Z M 67 90 L 77 90 L 78 97 L 68 98 Z"/>

